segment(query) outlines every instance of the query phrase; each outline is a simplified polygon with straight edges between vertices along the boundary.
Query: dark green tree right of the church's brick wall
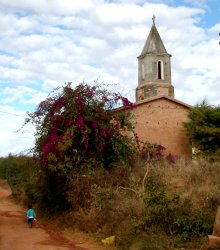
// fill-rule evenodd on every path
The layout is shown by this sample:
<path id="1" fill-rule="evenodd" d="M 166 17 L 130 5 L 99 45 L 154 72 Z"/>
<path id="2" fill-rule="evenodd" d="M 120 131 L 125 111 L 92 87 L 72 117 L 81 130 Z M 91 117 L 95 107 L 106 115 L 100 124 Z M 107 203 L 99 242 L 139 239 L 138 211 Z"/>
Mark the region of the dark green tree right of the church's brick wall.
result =
<path id="1" fill-rule="evenodd" d="M 205 101 L 189 111 L 184 124 L 193 147 L 212 159 L 220 159 L 220 107 Z"/>

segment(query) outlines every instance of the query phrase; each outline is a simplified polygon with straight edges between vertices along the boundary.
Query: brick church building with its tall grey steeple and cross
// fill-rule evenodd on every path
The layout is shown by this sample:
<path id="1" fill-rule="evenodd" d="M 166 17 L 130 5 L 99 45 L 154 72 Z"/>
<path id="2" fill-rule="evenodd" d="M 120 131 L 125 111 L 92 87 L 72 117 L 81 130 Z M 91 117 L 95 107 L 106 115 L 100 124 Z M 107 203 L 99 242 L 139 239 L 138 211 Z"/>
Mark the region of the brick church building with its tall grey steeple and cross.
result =
<path id="1" fill-rule="evenodd" d="M 189 156 L 191 147 L 183 127 L 190 105 L 174 98 L 171 55 L 153 25 L 138 56 L 138 86 L 133 109 L 135 131 L 142 141 L 161 144 L 166 153 Z"/>

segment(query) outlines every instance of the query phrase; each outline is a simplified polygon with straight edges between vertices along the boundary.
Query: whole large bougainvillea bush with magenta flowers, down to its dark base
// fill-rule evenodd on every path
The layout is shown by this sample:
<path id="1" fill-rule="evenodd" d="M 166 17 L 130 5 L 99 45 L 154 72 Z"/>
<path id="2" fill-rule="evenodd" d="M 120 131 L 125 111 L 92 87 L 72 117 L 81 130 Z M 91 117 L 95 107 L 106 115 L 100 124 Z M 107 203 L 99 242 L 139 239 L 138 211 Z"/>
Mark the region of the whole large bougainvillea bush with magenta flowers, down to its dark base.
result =
<path id="1" fill-rule="evenodd" d="M 139 140 L 132 124 L 132 108 L 134 104 L 120 93 L 98 84 L 82 83 L 72 88 L 68 83 L 28 113 L 25 123 L 36 127 L 33 151 L 41 166 L 37 193 L 42 194 L 38 202 L 44 209 L 88 207 L 98 170 L 107 174 L 119 167 L 124 180 L 134 154 L 140 153 L 146 161 L 161 158 L 161 145 Z"/>

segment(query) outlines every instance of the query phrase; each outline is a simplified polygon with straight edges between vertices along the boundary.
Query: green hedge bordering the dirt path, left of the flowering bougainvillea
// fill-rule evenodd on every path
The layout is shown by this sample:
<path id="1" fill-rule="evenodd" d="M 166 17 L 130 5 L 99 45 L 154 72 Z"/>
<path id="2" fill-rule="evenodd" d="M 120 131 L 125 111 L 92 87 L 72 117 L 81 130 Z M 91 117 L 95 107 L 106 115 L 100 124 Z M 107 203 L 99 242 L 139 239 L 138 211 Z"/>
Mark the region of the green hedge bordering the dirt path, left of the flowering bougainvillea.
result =
<path id="1" fill-rule="evenodd" d="M 9 155 L 2 162 L 6 167 L 7 182 L 16 200 L 24 205 L 35 204 L 44 214 L 66 209 L 64 179 L 55 182 L 41 170 L 39 162 L 29 156 Z"/>

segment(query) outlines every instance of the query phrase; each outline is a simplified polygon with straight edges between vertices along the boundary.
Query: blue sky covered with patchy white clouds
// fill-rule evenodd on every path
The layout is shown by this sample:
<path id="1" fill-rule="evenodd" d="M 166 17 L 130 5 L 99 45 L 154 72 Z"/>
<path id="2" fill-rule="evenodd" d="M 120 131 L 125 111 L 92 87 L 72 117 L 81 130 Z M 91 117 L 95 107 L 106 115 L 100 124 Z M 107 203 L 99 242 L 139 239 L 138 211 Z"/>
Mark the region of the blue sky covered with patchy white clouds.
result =
<path id="1" fill-rule="evenodd" d="M 153 15 L 175 98 L 220 105 L 219 0 L 0 0 L 0 156 L 28 153 L 27 112 L 66 82 L 112 84 L 135 101 Z"/>

